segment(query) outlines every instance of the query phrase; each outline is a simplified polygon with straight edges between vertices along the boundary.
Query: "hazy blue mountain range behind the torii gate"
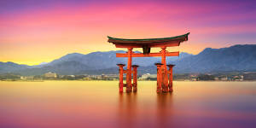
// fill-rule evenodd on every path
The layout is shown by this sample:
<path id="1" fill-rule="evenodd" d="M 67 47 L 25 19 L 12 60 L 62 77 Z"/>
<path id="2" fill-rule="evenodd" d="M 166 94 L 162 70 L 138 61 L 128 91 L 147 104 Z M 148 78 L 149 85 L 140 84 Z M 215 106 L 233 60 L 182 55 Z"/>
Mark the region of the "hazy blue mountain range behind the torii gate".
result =
<path id="1" fill-rule="evenodd" d="M 116 64 L 126 63 L 127 58 L 117 58 L 116 53 L 125 53 L 125 51 L 92 52 L 87 55 L 73 53 L 36 66 L 0 62 L 0 73 L 20 73 L 21 75 L 41 75 L 47 72 L 59 74 L 118 73 Z M 132 58 L 132 63 L 140 66 L 138 73 L 156 73 L 154 63 L 160 62 L 160 59 L 160 57 Z M 175 73 L 256 71 L 256 44 L 234 45 L 221 49 L 207 48 L 198 55 L 182 52 L 178 57 L 167 57 L 166 61 L 177 65 L 174 67 Z"/>

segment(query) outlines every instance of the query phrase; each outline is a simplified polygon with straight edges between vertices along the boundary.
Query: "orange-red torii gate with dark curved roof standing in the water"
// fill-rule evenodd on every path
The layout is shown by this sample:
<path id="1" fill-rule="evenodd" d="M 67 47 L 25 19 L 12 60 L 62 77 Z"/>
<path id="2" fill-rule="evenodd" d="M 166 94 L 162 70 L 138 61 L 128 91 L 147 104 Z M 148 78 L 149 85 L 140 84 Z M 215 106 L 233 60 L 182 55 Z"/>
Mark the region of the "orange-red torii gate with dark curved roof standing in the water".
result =
<path id="1" fill-rule="evenodd" d="M 188 40 L 189 33 L 172 38 L 145 38 L 145 39 L 125 39 L 108 37 L 108 42 L 115 44 L 116 48 L 127 48 L 127 53 L 117 53 L 116 57 L 128 57 L 127 69 L 124 70 L 124 64 L 119 66 L 119 91 L 126 92 L 137 91 L 137 65 L 131 65 L 132 57 L 162 57 L 161 63 L 155 63 L 157 67 L 157 92 L 172 91 L 172 67 L 174 65 L 166 65 L 166 56 L 178 56 L 179 52 L 168 52 L 167 47 L 179 46 L 183 41 Z M 160 47 L 159 53 L 150 53 L 151 47 Z M 133 48 L 143 48 L 143 53 L 133 53 Z M 167 70 L 167 67 L 169 70 Z M 131 70 L 131 67 L 133 70 Z M 126 73 L 126 84 L 123 84 L 123 73 Z M 133 83 L 131 84 L 131 74 L 133 74 Z M 168 77 L 169 75 L 169 77 Z M 169 78 L 169 79 L 168 79 Z"/>

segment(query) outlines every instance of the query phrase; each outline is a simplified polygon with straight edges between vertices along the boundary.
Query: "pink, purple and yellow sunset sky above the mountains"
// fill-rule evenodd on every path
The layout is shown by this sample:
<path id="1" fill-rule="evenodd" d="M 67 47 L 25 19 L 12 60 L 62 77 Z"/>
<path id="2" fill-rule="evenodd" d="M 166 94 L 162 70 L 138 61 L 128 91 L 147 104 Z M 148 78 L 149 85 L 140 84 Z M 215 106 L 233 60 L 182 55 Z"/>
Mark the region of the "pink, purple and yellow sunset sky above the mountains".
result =
<path id="1" fill-rule="evenodd" d="M 178 49 L 192 54 L 256 44 L 256 1 L 0 1 L 0 61 L 34 65 L 73 52 L 117 50 L 107 36 L 166 38 L 187 32 L 189 41 Z"/>

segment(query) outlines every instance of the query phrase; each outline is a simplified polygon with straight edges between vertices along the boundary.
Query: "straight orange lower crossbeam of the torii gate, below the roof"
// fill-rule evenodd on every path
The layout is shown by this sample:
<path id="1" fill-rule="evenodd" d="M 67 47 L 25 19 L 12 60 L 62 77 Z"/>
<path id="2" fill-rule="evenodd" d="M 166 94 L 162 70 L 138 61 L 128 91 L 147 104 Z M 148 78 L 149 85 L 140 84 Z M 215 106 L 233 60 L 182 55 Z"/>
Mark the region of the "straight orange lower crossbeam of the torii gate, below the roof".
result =
<path id="1" fill-rule="evenodd" d="M 131 57 L 160 57 L 161 53 L 149 53 L 148 55 L 143 55 L 143 53 L 132 53 Z M 166 56 L 178 56 L 179 52 L 166 52 Z M 128 57 L 127 53 L 117 53 L 116 57 Z"/>

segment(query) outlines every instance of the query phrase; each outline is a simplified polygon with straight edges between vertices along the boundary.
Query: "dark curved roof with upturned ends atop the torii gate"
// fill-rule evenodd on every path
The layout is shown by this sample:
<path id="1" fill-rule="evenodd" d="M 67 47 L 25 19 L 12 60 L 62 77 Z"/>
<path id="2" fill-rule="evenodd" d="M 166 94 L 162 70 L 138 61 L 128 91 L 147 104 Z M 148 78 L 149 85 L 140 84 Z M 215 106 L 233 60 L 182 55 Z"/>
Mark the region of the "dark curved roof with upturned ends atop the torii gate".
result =
<path id="1" fill-rule="evenodd" d="M 108 42 L 113 44 L 155 44 L 155 43 L 171 43 L 178 42 L 181 43 L 183 41 L 188 40 L 189 32 L 180 36 L 170 37 L 170 38 L 142 38 L 142 39 L 127 39 L 127 38 L 112 38 L 108 36 Z"/>

